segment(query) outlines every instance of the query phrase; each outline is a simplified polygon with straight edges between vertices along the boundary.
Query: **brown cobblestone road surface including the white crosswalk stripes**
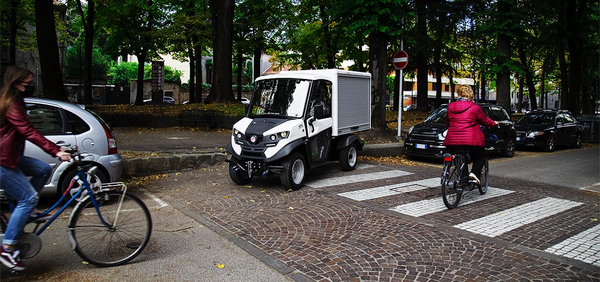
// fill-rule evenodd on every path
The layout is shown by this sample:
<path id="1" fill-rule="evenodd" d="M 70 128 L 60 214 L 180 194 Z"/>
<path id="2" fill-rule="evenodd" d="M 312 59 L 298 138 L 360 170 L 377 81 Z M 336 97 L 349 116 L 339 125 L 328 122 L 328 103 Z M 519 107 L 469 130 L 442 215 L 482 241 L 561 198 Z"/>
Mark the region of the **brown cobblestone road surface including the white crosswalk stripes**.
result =
<path id="1" fill-rule="evenodd" d="M 439 170 L 331 163 L 292 192 L 221 163 L 148 189 L 315 281 L 600 281 L 598 193 L 491 175 L 448 210 Z"/>

